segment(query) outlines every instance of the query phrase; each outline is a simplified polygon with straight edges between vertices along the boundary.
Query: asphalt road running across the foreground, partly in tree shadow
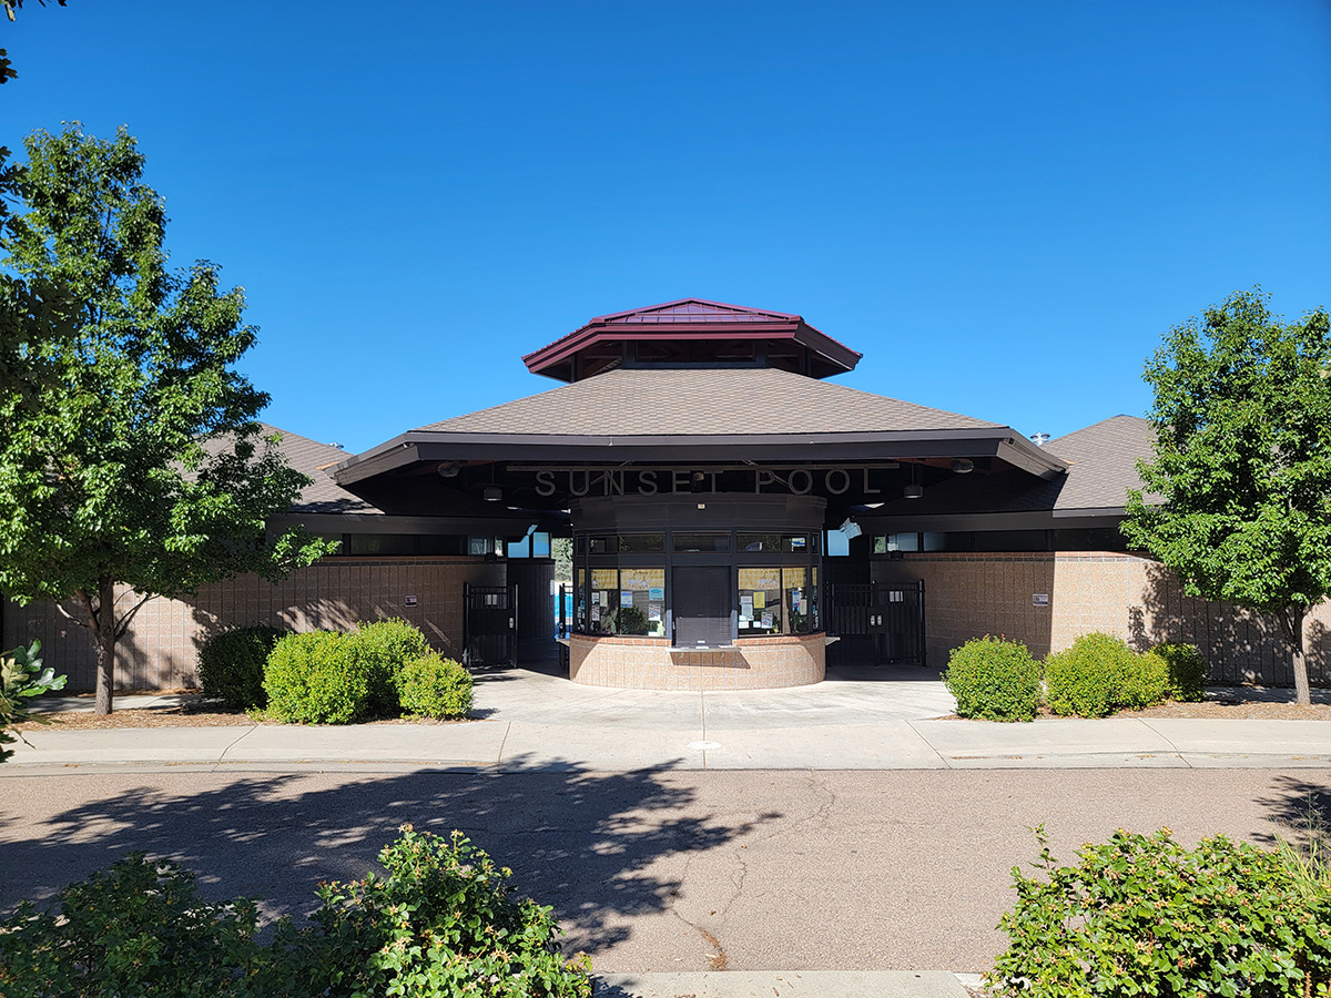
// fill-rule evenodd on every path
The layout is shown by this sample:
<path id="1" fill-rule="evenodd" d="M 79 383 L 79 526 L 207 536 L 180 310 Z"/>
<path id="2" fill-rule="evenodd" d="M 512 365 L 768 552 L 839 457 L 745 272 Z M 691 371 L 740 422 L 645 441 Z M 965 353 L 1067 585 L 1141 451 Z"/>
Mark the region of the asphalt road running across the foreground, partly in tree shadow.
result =
<path id="1" fill-rule="evenodd" d="M 1331 773 L 1262 769 L 71 774 L 0 782 L 0 908 L 130 849 L 307 912 L 402 822 L 459 828 L 602 971 L 982 970 L 1009 870 L 1115 828 L 1270 841 Z"/>

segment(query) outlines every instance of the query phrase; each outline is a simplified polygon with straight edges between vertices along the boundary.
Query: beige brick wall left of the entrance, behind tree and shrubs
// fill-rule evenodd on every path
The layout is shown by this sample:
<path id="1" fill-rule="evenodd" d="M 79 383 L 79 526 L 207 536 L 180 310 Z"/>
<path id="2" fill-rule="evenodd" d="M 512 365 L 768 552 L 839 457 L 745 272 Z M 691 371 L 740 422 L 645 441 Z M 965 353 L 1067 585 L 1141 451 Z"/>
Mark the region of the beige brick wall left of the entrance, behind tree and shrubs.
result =
<path id="1" fill-rule="evenodd" d="M 293 572 L 278 584 L 253 575 L 205 585 L 193 599 L 157 597 L 138 611 L 121 639 L 118 689 L 176 689 L 197 685 L 194 663 L 209 635 L 237 624 L 272 624 L 291 631 L 350 629 L 362 621 L 403 617 L 445 655 L 462 655 L 462 585 L 503 585 L 503 563 L 476 558 L 330 558 Z M 417 597 L 407 607 L 406 596 Z M 122 591 L 120 599 L 133 595 Z M 72 603 L 65 604 L 77 616 Z M 4 604 L 5 647 L 41 639 L 48 665 L 69 676 L 68 689 L 96 685 L 91 635 L 52 603 Z"/>

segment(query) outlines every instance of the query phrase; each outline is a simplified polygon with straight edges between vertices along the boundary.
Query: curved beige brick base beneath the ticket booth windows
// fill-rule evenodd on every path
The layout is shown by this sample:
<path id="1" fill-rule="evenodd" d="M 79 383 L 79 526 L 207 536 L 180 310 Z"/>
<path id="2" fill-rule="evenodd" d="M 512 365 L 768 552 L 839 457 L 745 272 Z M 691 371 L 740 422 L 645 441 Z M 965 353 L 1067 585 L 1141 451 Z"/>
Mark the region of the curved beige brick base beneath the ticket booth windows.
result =
<path id="1" fill-rule="evenodd" d="M 741 637 L 735 648 L 680 652 L 662 637 L 568 639 L 568 677 L 622 689 L 780 689 L 821 683 L 823 633 Z"/>

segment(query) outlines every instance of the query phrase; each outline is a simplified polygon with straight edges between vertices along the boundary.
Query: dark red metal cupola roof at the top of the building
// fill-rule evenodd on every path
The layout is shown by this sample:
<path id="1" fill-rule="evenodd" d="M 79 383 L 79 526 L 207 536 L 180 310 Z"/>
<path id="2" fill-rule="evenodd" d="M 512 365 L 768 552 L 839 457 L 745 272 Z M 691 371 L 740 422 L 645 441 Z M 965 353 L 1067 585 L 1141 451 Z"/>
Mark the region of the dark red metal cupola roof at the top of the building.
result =
<path id="1" fill-rule="evenodd" d="M 801 315 L 681 298 L 598 315 L 522 359 L 532 374 L 574 382 L 620 366 L 772 366 L 827 378 L 860 357 Z"/>

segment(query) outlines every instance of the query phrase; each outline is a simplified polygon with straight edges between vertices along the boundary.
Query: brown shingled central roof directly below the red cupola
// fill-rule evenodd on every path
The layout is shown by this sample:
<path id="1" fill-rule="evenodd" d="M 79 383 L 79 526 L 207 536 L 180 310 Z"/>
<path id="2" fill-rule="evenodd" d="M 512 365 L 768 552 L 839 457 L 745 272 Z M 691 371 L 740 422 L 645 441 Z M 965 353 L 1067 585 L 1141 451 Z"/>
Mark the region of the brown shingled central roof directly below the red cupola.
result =
<path id="1" fill-rule="evenodd" d="M 620 369 L 421 432 L 727 435 L 890 432 L 994 427 L 775 367 Z"/>

